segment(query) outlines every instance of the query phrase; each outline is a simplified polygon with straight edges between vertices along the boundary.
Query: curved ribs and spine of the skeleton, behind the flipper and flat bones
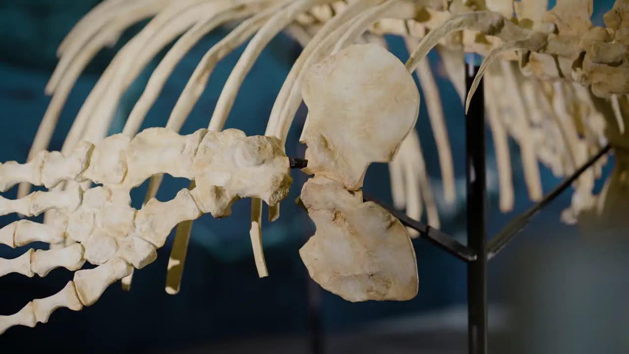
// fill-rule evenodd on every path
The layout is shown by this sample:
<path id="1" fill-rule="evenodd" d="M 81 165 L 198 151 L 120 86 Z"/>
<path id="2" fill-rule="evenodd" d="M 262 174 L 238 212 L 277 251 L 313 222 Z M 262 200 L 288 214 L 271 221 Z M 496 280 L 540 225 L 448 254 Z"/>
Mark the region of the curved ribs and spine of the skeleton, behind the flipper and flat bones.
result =
<path id="1" fill-rule="evenodd" d="M 131 111 L 123 134 L 128 137 L 137 134 L 143 118 L 159 96 L 170 72 L 194 43 L 218 26 L 239 21 L 240 24 L 201 59 L 170 113 L 166 128 L 179 132 L 203 93 L 216 63 L 233 48 L 252 38 L 231 72 L 208 123 L 209 130 L 222 130 L 240 84 L 253 62 L 272 37 L 280 31 L 286 31 L 304 45 L 304 52 L 292 67 L 277 96 L 265 132 L 284 143 L 292 117 L 301 103 L 299 88 L 303 72 L 313 62 L 353 42 L 382 42 L 381 36 L 384 34 L 404 37 L 409 53 L 415 54 L 418 47 L 426 49 L 425 42 L 420 41 L 425 40 L 429 33 L 436 33 L 440 26 L 460 14 L 470 14 L 472 18 L 473 14 L 481 13 L 476 11 L 484 11 L 484 18 L 503 21 L 499 22 L 502 27 L 487 26 L 487 21 L 471 21 L 465 23 L 471 29 L 459 28 L 436 41 L 436 49 L 443 66 L 457 88 L 462 103 L 465 101 L 465 85 L 464 72 L 460 70 L 465 52 L 489 55 L 505 43 L 530 38 L 532 31 L 544 33 L 543 38 L 547 40 L 543 48 L 531 50 L 528 47 L 514 47 L 523 50 L 504 52 L 499 60 L 489 65 L 484 77 L 486 96 L 499 96 L 498 93 L 508 92 L 515 100 L 488 100 L 486 103 L 489 127 L 496 142 L 501 210 L 511 210 L 514 202 L 506 144 L 509 137 L 521 147 L 526 186 L 532 200 L 542 197 L 538 163 L 548 166 L 556 176 L 565 176 L 607 142 L 625 148 L 629 145 L 626 143 L 624 128 L 629 122 L 623 120 L 626 120 L 626 111 L 629 110 L 626 96 L 629 88 L 626 83 L 604 83 L 604 78 L 614 75 L 626 77 L 626 72 L 629 71 L 626 64 L 628 59 L 626 54 L 611 58 L 601 54 L 601 48 L 611 53 L 618 52 L 618 48 L 629 44 L 629 39 L 620 35 L 623 32 L 621 29 L 626 30 L 627 24 L 619 22 L 620 20 L 615 21 L 617 11 L 627 11 L 627 1 L 616 1 L 615 8 L 606 16 L 610 23 L 608 30 L 603 31 L 587 26 L 593 3 L 591 0 L 557 0 L 555 11 L 548 13 L 547 1 L 486 0 L 469 2 L 472 3 L 469 6 L 464 3 L 467 2 L 106 0 L 77 23 L 58 49 L 59 64 L 47 86 L 47 93 L 52 94 L 52 101 L 36 134 L 29 161 L 33 161 L 41 151 L 47 149 L 70 89 L 97 50 L 114 42 L 128 26 L 150 17 L 153 20 L 120 50 L 89 94 L 67 135 L 62 154 L 73 151 L 83 139 L 97 144 L 106 137 L 114 109 L 125 89 L 150 59 L 178 35 L 182 37 L 175 42 L 174 47 L 153 72 L 142 98 Z M 567 7 L 572 9 L 568 10 Z M 555 18 L 583 20 L 584 14 L 588 16 L 588 20 L 584 21 L 582 28 L 566 28 L 560 21 L 559 25 L 550 26 L 553 28 L 548 26 Z M 574 42 L 574 38 L 579 35 L 589 35 L 594 42 Z M 555 42 L 549 42 L 548 38 L 551 37 Z M 567 44 L 558 47 L 559 42 Z M 584 54 L 587 60 L 573 57 L 572 52 Z M 416 62 L 409 69 L 415 71 L 419 78 L 438 145 L 443 178 L 443 191 L 438 193 L 443 193 L 448 202 L 454 202 L 454 171 L 448 135 L 443 123 L 443 111 L 437 101 L 439 93 L 431 67 L 421 57 L 422 55 L 415 57 Z M 581 66 L 575 66 L 577 62 L 581 62 Z M 611 100 L 599 98 L 593 91 L 598 96 L 611 97 Z M 574 98 L 578 98 L 580 102 L 576 103 Z M 439 227 L 435 198 L 428 184 L 429 177 L 423 161 L 418 134 L 412 131 L 394 161 L 389 164 L 392 197 L 396 207 L 406 208 L 407 214 L 415 219 L 419 219 L 423 209 L 426 209 L 429 223 Z M 571 209 L 564 214 L 565 221 L 574 222 L 582 210 L 591 208 L 596 202 L 592 194 L 593 184 L 604 163 L 602 161 L 597 164 L 578 180 Z M 155 195 L 159 184 L 160 177 L 153 176 L 147 200 Z M 55 190 L 68 187 L 72 187 L 72 183 L 67 183 L 65 187 L 57 186 Z M 25 197 L 28 192 L 28 184 L 22 183 L 19 197 Z M 279 216 L 278 207 L 276 205 L 270 210 L 272 219 Z M 254 200 L 253 208 L 261 210 L 261 201 Z M 261 212 L 252 215 L 252 239 L 259 239 Z M 47 223 L 52 223 L 53 219 L 54 215 L 49 213 Z M 175 243 L 187 243 L 186 237 L 185 232 L 177 232 Z M 261 246 L 257 247 L 257 252 L 261 253 Z M 267 273 L 264 261 L 257 262 L 257 266 L 261 276 Z"/>

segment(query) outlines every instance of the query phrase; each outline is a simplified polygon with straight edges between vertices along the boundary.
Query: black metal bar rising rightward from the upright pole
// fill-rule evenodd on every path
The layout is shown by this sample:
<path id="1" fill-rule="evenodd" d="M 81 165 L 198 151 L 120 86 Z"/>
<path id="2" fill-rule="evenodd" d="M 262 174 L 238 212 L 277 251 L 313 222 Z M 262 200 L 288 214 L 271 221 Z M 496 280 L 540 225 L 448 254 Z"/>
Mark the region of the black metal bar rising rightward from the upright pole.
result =
<path id="1" fill-rule="evenodd" d="M 518 215 L 515 219 L 511 220 L 507 226 L 503 227 L 503 229 L 498 232 L 498 234 L 489 241 L 487 244 L 487 259 L 493 258 L 496 254 L 498 254 L 504 246 L 506 246 L 513 237 L 515 237 L 522 229 L 528 225 L 533 215 L 537 214 L 546 207 L 550 202 L 555 200 L 555 198 L 559 197 L 561 193 L 563 193 L 569 186 L 576 181 L 581 174 L 583 174 L 588 168 L 592 167 L 596 161 L 598 161 L 604 154 L 607 154 L 610 151 L 611 147 L 609 145 L 603 147 L 598 154 L 594 155 L 589 159 L 581 168 L 574 171 L 574 173 L 566 178 L 560 185 L 555 187 L 550 193 L 546 195 L 540 202 L 533 205 L 533 207 L 529 208 L 523 214 Z"/>

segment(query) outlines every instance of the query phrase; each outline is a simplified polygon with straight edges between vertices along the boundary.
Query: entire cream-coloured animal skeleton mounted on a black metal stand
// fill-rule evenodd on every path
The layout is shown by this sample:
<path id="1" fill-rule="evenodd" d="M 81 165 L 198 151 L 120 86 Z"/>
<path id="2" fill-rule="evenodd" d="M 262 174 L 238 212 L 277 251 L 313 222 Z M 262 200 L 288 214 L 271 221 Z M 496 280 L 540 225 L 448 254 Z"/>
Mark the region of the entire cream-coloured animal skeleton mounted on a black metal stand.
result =
<path id="1" fill-rule="evenodd" d="M 611 215 L 617 217 L 629 210 L 625 192 L 629 168 L 625 130 L 629 111 L 629 1 L 616 1 L 604 17 L 606 28 L 591 24 L 592 0 L 557 0 L 555 8 L 547 8 L 545 0 L 103 1 L 59 46 L 59 64 L 46 88 L 52 101 L 28 163 L 0 166 L 3 190 L 20 183 L 18 200 L 2 200 L 3 213 L 45 212 L 44 224 L 20 220 L 4 227 L 0 240 L 9 246 L 35 240 L 51 244 L 48 251 L 30 250 L 14 260 L 3 260 L 2 273 L 45 275 L 57 266 L 78 270 L 84 260 L 100 265 L 94 270 L 78 270 L 74 281 L 59 294 L 34 300 L 13 316 L 0 317 L 0 331 L 15 324 L 45 322 L 52 309 L 61 305 L 74 310 L 91 305 L 120 278 L 128 287 L 131 265 L 139 269 L 150 263 L 155 248 L 164 244 L 178 223 L 170 261 L 183 263 L 184 254 L 176 254 L 175 249 L 187 244 L 191 220 L 202 212 L 215 217 L 228 215 L 231 203 L 241 197 L 253 198 L 250 236 L 259 275 L 267 275 L 261 246 L 262 200 L 269 204 L 270 219 L 277 219 L 278 202 L 286 196 L 290 181 L 284 143 L 302 98 L 309 108 L 300 139 L 308 145 L 309 166 L 305 171 L 315 177 L 306 182 L 301 198 L 317 232 L 300 253 L 311 277 L 352 301 L 415 296 L 416 261 L 407 231 L 386 210 L 362 203 L 359 189 L 369 163 L 390 161 L 396 207 L 406 207 L 407 214 L 418 219 L 425 203 L 428 222 L 439 227 L 420 142 L 413 129 L 419 96 L 414 96 L 415 86 L 410 89 L 408 85 L 412 83 L 409 72 L 415 71 L 425 91 L 438 144 L 445 200 L 454 200 L 454 172 L 443 111 L 430 65 L 423 60 L 435 46 L 462 101 L 465 52 L 486 56 L 479 73 L 479 77 L 484 74 L 486 96 L 506 93 L 511 98 L 486 102 L 496 144 L 501 210 L 513 207 L 508 136 L 521 147 L 532 200 L 542 197 L 538 161 L 563 176 L 609 143 L 615 151 L 616 166 L 603 193 L 594 196 L 592 190 L 604 161 L 579 178 L 571 208 L 563 219 L 611 225 Z M 89 94 L 61 151 L 43 152 L 67 95 L 87 62 L 104 45 L 115 42 L 128 26 L 150 17 L 153 20 L 118 52 Z M 166 127 L 138 134 L 143 118 L 179 60 L 204 35 L 233 21 L 239 24 L 199 62 Z M 266 137 L 245 137 L 236 130 L 221 132 L 244 77 L 265 45 L 281 31 L 302 43 L 304 49 L 270 112 Z M 411 53 L 403 70 L 406 76 L 401 75 L 401 62 L 382 49 L 386 46 L 381 37 L 384 34 L 406 40 Z M 179 35 L 150 77 L 122 134 L 106 137 L 126 88 Z M 216 63 L 252 36 L 225 84 L 208 130 L 177 134 Z M 350 46 L 356 42 L 380 45 Z M 389 86 L 382 87 L 399 89 L 391 92 L 404 93 L 403 103 L 396 103 L 398 97 L 387 96 L 373 84 L 389 75 L 399 77 L 398 83 L 406 86 L 398 88 L 388 82 Z M 397 109 L 398 103 L 406 110 Z M 382 123 L 389 117 L 404 124 L 389 127 Z M 345 132 L 349 133 L 340 137 Z M 381 144 L 367 144 L 361 140 L 364 137 Z M 264 171 L 261 180 L 250 178 L 254 170 Z M 194 182 L 174 200 L 160 203 L 152 197 L 162 173 Z M 148 202 L 133 210 L 128 191 L 146 178 L 151 178 Z M 103 186 L 89 188 L 92 181 Z M 30 184 L 51 190 L 29 195 Z M 169 207 L 170 213 L 160 214 L 167 205 L 181 205 L 182 212 L 173 215 Z M 105 208 L 109 214 L 104 214 Z M 365 220 L 370 220 L 369 224 Z M 92 232 L 89 225 L 106 226 L 99 229 L 108 234 Z M 384 238 L 390 243 L 383 246 L 365 241 L 363 252 L 357 251 L 352 242 L 373 241 L 374 230 L 387 232 Z M 335 249 L 330 249 L 330 242 L 335 243 Z M 357 263 L 347 264 L 347 254 L 357 254 Z M 181 271 L 181 267 L 169 267 L 170 294 L 179 289 Z"/>

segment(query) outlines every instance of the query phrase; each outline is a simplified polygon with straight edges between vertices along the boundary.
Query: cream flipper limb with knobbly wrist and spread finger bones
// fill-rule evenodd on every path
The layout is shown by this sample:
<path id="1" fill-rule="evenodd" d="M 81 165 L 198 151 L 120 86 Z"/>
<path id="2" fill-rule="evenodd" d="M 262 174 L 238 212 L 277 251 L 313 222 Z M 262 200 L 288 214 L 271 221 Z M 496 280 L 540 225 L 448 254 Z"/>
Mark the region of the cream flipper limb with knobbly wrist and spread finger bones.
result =
<path id="1" fill-rule="evenodd" d="M 65 191 L 37 191 L 18 200 L 0 201 L 0 209 L 37 215 L 57 209 L 54 224 L 19 220 L 0 229 L 0 243 L 10 247 L 34 241 L 71 239 L 66 248 L 29 249 L 12 260 L 0 260 L 0 276 L 21 273 L 41 277 L 64 267 L 77 270 L 74 280 L 56 295 L 33 300 L 11 316 L 0 316 L 0 333 L 16 325 L 45 323 L 58 307 L 78 311 L 94 304 L 111 283 L 142 269 L 157 257 L 173 227 L 204 213 L 231 214 L 240 198 L 261 198 L 274 205 L 291 185 L 289 160 L 274 137 L 247 137 L 240 130 L 209 132 L 201 129 L 179 135 L 166 128 L 148 128 L 133 139 L 112 135 L 96 146 L 82 144 L 67 157 L 46 152 L 27 164 L 0 166 L 3 186 L 21 181 L 55 186 L 63 180 L 102 183 L 83 191 L 79 185 Z M 129 191 L 156 173 L 196 181 L 174 199 L 154 198 L 140 210 L 130 207 Z M 97 265 L 79 270 L 85 261 Z"/>

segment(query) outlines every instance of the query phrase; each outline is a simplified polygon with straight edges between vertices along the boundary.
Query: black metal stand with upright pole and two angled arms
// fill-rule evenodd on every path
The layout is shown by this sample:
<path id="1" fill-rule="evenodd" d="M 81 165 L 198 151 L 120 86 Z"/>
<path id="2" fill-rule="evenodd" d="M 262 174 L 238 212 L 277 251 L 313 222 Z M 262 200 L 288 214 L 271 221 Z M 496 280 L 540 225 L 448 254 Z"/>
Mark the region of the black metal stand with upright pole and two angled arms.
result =
<path id="1" fill-rule="evenodd" d="M 476 76 L 479 67 L 470 64 L 466 70 L 466 83 L 469 86 Z M 397 217 L 404 226 L 419 231 L 421 236 L 439 248 L 447 251 L 462 261 L 467 262 L 467 309 L 468 309 L 468 353 L 487 354 L 487 261 L 493 258 L 506 244 L 528 224 L 533 215 L 559 197 L 574 181 L 590 168 L 598 159 L 610 151 L 605 146 L 581 168 L 566 178 L 559 186 L 546 195 L 525 213 L 518 215 L 504 227 L 498 235 L 486 244 L 486 164 L 485 164 L 485 114 L 482 80 L 470 102 L 465 119 L 465 181 L 467 186 L 467 246 L 457 242 L 453 237 L 413 220 L 399 210 L 379 202 L 363 193 L 365 202 L 376 202 Z M 308 161 L 290 158 L 291 168 L 301 169 Z M 314 300 L 314 301 L 313 301 Z M 311 299 L 313 307 L 318 302 Z M 313 316 L 314 315 L 314 316 Z M 311 346 L 312 353 L 320 354 L 322 350 L 321 325 L 318 316 L 311 312 Z"/>

